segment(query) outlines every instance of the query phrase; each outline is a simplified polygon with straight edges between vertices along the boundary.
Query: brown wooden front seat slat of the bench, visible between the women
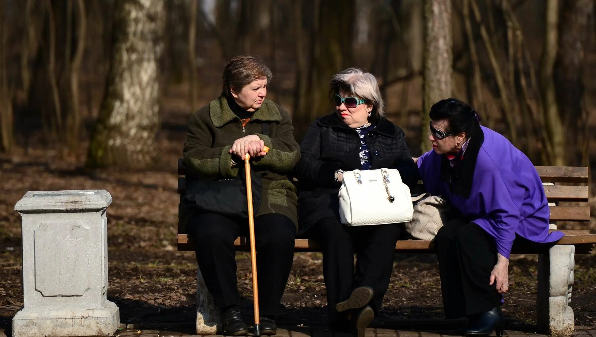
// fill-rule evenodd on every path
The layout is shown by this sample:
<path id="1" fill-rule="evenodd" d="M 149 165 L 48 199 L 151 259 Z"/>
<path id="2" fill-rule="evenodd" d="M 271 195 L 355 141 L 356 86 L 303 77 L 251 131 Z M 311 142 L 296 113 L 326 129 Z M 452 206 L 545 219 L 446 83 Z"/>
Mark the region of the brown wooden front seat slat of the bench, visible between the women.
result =
<path id="1" fill-rule="evenodd" d="M 557 242 L 557 244 L 573 244 L 585 245 L 596 243 L 596 235 L 589 234 L 587 229 L 563 229 L 565 236 Z M 234 241 L 235 247 L 238 251 L 250 251 L 249 243 L 246 237 L 238 237 Z M 186 234 L 178 234 L 178 250 L 194 250 L 194 246 L 189 242 Z M 320 251 L 319 244 L 314 240 L 296 239 L 294 243 L 294 250 L 296 251 Z M 405 251 L 433 251 L 434 243 L 432 240 L 400 240 L 395 245 L 395 250 L 400 252 Z M 531 253 L 529 251 L 516 253 Z"/>

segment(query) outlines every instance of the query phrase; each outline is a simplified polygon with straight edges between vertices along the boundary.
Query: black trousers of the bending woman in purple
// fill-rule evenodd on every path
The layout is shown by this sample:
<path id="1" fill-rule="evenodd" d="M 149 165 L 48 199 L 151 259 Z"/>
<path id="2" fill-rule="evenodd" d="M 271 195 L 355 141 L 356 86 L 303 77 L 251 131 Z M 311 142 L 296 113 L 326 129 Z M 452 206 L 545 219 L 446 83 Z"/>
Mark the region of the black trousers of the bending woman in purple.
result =
<path id="1" fill-rule="evenodd" d="M 516 236 L 513 248 L 545 250 L 542 244 Z M 439 258 L 445 317 L 454 319 L 490 310 L 502 303 L 496 282 L 489 285 L 496 264 L 495 239 L 473 222 L 453 219 L 437 232 L 434 247 Z"/>

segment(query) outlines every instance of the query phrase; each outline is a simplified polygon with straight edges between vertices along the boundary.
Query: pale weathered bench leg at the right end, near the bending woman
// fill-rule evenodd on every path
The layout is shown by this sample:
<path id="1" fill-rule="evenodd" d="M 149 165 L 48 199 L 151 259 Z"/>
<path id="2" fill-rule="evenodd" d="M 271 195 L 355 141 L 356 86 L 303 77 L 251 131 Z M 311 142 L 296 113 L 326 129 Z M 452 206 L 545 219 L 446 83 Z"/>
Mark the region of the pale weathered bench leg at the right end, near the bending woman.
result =
<path id="1" fill-rule="evenodd" d="M 573 289 L 575 246 L 555 245 L 538 257 L 538 327 L 553 336 L 573 335 Z"/>

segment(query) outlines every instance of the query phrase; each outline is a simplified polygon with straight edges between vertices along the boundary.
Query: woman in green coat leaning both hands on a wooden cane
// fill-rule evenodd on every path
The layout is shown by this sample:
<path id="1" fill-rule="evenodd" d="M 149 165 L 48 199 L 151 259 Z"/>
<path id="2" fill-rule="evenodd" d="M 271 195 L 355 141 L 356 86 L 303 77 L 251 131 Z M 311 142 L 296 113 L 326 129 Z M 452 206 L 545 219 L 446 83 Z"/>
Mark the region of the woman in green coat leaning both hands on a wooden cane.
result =
<path id="1" fill-rule="evenodd" d="M 232 58 L 225 65 L 223 80 L 222 95 L 191 116 L 184 144 L 184 164 L 191 182 L 183 199 L 199 200 L 193 193 L 205 193 L 207 201 L 237 199 L 241 193 L 238 189 L 218 186 L 229 182 L 225 179 L 244 177 L 243 158 L 246 153 L 250 155 L 253 177 L 262 181 L 260 206 L 254 213 L 260 329 L 264 335 L 274 335 L 297 228 L 296 189 L 286 174 L 300 159 L 300 150 L 290 116 L 265 99 L 271 70 L 259 58 Z M 205 181 L 217 188 L 192 188 Z M 247 235 L 247 218 L 229 214 L 225 207 L 206 210 L 199 203 L 187 203 L 186 207 L 186 231 L 195 243 L 198 267 L 215 305 L 222 310 L 226 334 L 245 335 L 247 326 L 238 311 L 234 240 Z"/>

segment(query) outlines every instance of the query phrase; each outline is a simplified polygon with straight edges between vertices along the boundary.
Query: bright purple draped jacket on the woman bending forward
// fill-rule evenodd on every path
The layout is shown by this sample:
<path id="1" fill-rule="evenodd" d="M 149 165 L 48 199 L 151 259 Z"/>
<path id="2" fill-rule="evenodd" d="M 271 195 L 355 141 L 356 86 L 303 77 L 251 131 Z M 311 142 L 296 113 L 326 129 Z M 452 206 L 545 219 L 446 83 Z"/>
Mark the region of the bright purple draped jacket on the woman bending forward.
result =
<path id="1" fill-rule="evenodd" d="M 434 150 L 418 159 L 418 169 L 426 190 L 443 196 L 491 234 L 507 259 L 516 234 L 535 242 L 563 237 L 562 232 L 548 233 L 547 197 L 532 162 L 489 128 L 474 131 L 457 169 Z"/>

